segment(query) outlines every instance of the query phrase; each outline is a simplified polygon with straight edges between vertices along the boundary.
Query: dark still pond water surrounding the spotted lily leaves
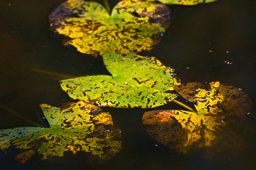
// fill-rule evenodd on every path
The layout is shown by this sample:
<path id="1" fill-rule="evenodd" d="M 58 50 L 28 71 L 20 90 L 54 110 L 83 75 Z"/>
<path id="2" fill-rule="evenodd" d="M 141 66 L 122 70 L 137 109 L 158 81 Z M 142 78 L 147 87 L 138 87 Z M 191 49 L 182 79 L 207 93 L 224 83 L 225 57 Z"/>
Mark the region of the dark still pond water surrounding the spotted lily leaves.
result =
<path id="1" fill-rule="evenodd" d="M 47 15 L 62 0 L 0 0 L 0 103 L 40 123 L 39 104 L 60 106 L 72 101 L 59 86 L 60 77 L 102 72 L 100 58 L 69 51 L 49 31 Z M 111 2 L 113 5 L 116 2 Z M 220 81 L 241 88 L 253 101 L 256 116 L 256 1 L 226 0 L 204 6 L 169 6 L 173 20 L 168 35 L 152 51 L 162 63 L 176 68 L 183 83 Z M 227 64 L 230 62 L 232 64 Z M 37 156 L 25 164 L 0 151 L 0 169 L 255 169 L 256 144 L 239 156 L 207 159 L 204 150 L 188 156 L 159 145 L 142 124 L 143 109 L 103 108 L 122 129 L 122 151 L 94 165 L 66 155 L 54 162 Z M 250 116 L 254 128 L 256 117 Z M 30 126 L 0 107 L 0 129 Z M 255 134 L 251 136 L 252 139 Z M 157 145 L 157 146 L 156 146 Z"/>

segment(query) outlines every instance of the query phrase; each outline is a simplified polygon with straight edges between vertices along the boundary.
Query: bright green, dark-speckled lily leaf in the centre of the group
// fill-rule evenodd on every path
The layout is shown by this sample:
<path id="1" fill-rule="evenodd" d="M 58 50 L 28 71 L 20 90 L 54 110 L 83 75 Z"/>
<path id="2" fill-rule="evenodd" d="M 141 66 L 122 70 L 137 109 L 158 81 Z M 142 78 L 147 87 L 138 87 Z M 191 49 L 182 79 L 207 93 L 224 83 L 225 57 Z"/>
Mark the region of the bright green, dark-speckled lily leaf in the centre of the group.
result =
<path id="1" fill-rule="evenodd" d="M 180 84 L 174 77 L 174 69 L 164 66 L 155 57 L 106 53 L 103 61 L 112 76 L 62 80 L 62 89 L 73 99 L 96 100 L 97 106 L 110 107 L 156 107 L 177 97 L 166 92 Z"/>

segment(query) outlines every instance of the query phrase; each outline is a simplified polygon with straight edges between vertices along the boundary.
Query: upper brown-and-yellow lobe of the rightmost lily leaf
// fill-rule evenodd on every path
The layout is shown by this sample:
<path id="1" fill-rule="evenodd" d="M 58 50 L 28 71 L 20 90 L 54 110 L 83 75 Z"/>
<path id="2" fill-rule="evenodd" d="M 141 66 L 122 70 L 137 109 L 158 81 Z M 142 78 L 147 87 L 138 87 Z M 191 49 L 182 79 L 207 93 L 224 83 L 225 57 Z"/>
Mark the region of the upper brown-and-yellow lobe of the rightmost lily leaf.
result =
<path id="1" fill-rule="evenodd" d="M 244 113 L 248 113 L 252 109 L 252 101 L 248 95 L 238 88 L 226 86 L 220 82 L 212 82 L 209 86 L 191 82 L 174 86 L 174 90 L 202 109 L 211 111 L 218 107 L 226 117 L 236 115 L 240 119 L 244 119 Z"/>

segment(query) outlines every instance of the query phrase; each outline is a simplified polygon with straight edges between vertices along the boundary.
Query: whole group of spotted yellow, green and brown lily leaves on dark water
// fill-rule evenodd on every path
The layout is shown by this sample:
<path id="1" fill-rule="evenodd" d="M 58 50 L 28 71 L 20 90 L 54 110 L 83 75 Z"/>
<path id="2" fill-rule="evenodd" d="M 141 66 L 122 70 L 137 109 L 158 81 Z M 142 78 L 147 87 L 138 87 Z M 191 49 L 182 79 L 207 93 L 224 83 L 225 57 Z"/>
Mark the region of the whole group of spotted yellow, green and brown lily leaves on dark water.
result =
<path id="1" fill-rule="evenodd" d="M 52 31 L 66 36 L 66 47 L 94 57 L 101 55 L 109 75 L 61 80 L 61 88 L 80 101 L 62 107 L 40 105 L 50 128 L 0 131 L 0 149 L 19 150 L 16 159 L 23 163 L 36 152 L 42 154 L 42 159 L 63 156 L 66 151 L 84 151 L 97 160 L 109 160 L 122 149 L 120 129 L 112 127 L 111 115 L 99 106 L 153 108 L 179 95 L 195 104 L 196 113 L 145 112 L 142 121 L 151 137 L 184 154 L 192 148 L 218 143 L 245 147 L 245 140 L 231 127 L 240 128 L 241 120 L 247 121 L 245 115 L 252 102 L 246 94 L 220 82 L 180 84 L 173 68 L 164 66 L 156 57 L 136 54 L 150 51 L 165 34 L 170 25 L 170 11 L 165 4 L 214 1 L 122 0 L 111 15 L 96 2 L 67 0 L 60 4 L 49 15 Z M 233 138 L 228 140 L 230 135 Z"/>

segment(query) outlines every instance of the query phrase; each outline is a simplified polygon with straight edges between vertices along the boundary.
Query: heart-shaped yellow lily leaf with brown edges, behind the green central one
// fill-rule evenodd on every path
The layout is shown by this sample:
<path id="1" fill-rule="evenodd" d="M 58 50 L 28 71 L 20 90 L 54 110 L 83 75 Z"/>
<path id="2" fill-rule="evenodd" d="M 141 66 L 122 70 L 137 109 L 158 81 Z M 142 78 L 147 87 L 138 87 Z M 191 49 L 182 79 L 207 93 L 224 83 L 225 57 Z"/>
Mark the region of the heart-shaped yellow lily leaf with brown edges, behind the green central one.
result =
<path id="1" fill-rule="evenodd" d="M 97 2 L 68 0 L 54 9 L 49 22 L 55 33 L 70 38 L 65 46 L 97 57 L 151 50 L 170 24 L 170 11 L 157 2 L 123 0 L 110 16 Z"/>

